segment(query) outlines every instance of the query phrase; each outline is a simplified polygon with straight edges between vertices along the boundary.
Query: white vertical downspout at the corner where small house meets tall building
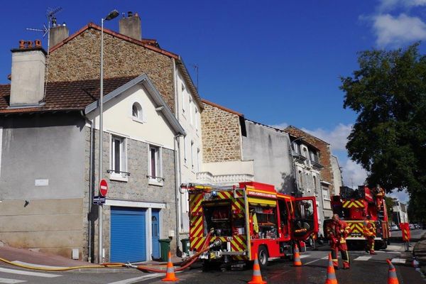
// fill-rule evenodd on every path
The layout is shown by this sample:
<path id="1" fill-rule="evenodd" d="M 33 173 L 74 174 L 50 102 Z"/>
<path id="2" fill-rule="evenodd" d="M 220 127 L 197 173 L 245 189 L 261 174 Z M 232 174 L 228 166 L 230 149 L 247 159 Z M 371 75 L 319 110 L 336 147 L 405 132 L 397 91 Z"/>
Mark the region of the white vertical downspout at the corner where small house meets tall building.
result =
<path id="1" fill-rule="evenodd" d="M 176 75 L 176 62 L 175 58 L 172 58 L 173 62 L 173 87 L 175 88 L 175 117 L 180 121 L 179 119 L 179 102 L 178 102 L 178 80 Z M 178 134 L 175 136 L 175 139 L 173 141 L 174 148 L 175 148 L 175 208 L 176 208 L 176 251 L 179 249 L 179 241 L 180 241 L 180 223 L 181 223 L 181 217 L 180 217 L 180 181 L 182 180 L 180 171 L 180 143 L 179 138 L 182 136 L 182 134 Z M 178 197 L 179 196 L 179 197 Z"/>

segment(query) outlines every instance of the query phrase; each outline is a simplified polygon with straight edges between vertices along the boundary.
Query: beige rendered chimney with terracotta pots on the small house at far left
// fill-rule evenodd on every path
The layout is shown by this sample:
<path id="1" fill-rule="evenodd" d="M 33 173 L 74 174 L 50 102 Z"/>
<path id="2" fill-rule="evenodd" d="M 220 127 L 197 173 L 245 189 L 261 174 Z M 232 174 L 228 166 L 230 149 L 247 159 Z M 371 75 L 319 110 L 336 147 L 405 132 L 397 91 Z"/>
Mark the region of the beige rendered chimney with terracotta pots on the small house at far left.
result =
<path id="1" fill-rule="evenodd" d="M 11 107 L 39 104 L 44 97 L 46 52 L 40 40 L 19 40 L 12 52 Z"/>

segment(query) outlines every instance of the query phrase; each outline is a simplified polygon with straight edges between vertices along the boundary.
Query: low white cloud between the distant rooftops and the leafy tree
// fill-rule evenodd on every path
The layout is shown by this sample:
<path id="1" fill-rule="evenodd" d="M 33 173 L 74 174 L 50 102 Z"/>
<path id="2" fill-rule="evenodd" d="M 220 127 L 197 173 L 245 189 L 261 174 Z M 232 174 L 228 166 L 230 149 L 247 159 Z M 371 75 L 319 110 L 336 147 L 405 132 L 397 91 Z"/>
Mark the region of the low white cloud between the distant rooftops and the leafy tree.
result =
<path id="1" fill-rule="evenodd" d="M 330 144 L 332 151 L 346 151 L 347 137 L 351 133 L 352 124 L 339 124 L 331 131 L 325 129 L 302 129 Z"/>

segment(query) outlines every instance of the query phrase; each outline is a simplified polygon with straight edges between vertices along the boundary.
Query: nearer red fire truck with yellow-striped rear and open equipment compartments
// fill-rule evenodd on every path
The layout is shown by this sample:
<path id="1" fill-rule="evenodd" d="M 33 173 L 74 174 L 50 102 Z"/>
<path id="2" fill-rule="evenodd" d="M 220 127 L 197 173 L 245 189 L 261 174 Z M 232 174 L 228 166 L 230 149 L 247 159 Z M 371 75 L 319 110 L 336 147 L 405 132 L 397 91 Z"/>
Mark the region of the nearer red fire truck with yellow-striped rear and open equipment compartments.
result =
<path id="1" fill-rule="evenodd" d="M 315 197 L 292 197 L 273 185 L 240 182 L 215 187 L 187 184 L 190 201 L 190 251 L 204 266 L 293 257 L 294 244 L 317 233 Z"/>

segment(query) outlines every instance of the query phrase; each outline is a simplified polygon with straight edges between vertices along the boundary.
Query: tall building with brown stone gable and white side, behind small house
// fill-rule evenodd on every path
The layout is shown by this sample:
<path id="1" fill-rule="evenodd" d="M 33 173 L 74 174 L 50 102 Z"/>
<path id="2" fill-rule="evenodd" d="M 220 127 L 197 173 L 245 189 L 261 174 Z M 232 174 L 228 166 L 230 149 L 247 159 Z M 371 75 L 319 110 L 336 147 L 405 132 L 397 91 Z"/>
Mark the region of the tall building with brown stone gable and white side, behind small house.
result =
<path id="1" fill-rule="evenodd" d="M 101 27 L 89 23 L 68 36 L 63 26 L 51 43 L 48 82 L 99 78 Z M 180 55 L 161 48 L 157 40 L 142 38 L 141 18 L 129 12 L 119 20 L 119 33 L 104 29 L 104 78 L 146 74 L 185 129 L 177 139 L 177 184 L 197 182 L 202 160 L 201 112 L 203 104 Z M 189 234 L 187 193 L 178 195 L 180 239 Z"/>

